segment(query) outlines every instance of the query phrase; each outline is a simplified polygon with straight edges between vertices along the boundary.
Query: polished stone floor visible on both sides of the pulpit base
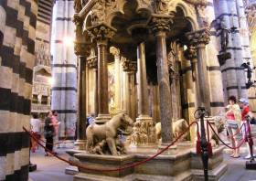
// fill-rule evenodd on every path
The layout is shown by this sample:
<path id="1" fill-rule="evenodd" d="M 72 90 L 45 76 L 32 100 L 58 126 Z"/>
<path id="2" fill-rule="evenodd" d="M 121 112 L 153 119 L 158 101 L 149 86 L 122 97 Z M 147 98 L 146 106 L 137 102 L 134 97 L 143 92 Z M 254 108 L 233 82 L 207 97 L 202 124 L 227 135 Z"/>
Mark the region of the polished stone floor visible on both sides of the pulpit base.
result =
<path id="1" fill-rule="evenodd" d="M 60 156 L 68 159 L 65 151 L 65 148 L 57 149 Z M 46 157 L 41 149 L 31 154 L 31 162 L 37 164 L 37 171 L 29 174 L 30 181 L 72 181 L 72 176 L 65 174 L 68 165 L 55 157 Z M 246 170 L 242 157 L 234 159 L 225 154 L 225 162 L 228 164 L 228 171 L 220 181 L 256 181 L 256 170 Z"/>

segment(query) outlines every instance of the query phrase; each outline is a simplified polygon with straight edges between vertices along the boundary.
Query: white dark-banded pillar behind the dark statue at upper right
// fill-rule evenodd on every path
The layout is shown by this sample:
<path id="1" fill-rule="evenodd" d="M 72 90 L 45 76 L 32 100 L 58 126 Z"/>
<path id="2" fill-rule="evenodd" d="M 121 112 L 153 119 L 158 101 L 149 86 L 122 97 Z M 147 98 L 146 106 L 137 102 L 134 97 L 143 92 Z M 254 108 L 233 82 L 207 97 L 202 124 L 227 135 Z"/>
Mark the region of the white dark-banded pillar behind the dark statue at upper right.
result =
<path id="1" fill-rule="evenodd" d="M 216 19 L 219 21 L 224 20 L 224 24 L 230 27 L 239 27 L 237 6 L 234 1 L 219 0 L 219 5 L 217 5 L 218 11 L 216 12 Z M 220 36 L 219 37 L 220 42 Z M 231 59 L 227 59 L 226 63 L 221 66 L 221 72 L 223 77 L 223 87 L 225 92 L 225 98 L 230 95 L 235 95 L 236 97 L 247 97 L 247 90 L 245 88 L 245 73 L 244 70 L 240 68 L 243 62 L 243 51 L 240 41 L 240 32 L 235 30 L 233 33 L 229 34 L 229 45 L 228 52 L 231 54 Z M 223 51 L 219 50 L 219 53 Z"/>

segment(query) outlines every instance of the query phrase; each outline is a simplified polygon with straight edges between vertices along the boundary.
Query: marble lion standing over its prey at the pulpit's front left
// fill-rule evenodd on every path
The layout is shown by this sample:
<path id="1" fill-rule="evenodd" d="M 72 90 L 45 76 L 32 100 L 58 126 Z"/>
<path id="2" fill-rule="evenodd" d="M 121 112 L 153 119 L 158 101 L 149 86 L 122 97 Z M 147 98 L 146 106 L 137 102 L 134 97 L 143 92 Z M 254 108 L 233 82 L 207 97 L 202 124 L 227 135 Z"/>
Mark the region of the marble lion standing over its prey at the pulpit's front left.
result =
<path id="1" fill-rule="evenodd" d="M 126 113 L 118 113 L 109 122 L 104 124 L 91 124 L 86 129 L 86 150 L 92 154 L 108 153 L 117 155 L 117 135 L 131 134 L 133 131 L 133 120 Z M 106 143 L 105 145 L 101 145 Z M 100 150 L 102 149 L 102 150 Z"/>

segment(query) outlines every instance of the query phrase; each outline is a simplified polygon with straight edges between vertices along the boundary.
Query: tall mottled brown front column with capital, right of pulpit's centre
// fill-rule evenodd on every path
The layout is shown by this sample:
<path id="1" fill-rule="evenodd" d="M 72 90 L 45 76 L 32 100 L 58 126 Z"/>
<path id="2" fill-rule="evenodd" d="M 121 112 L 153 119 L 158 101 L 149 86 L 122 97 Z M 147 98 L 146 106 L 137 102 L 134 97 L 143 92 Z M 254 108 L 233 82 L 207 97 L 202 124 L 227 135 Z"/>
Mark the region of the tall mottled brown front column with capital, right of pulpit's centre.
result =
<path id="1" fill-rule="evenodd" d="M 157 79 L 160 96 L 161 136 L 162 144 L 169 144 L 173 140 L 172 135 L 172 102 L 169 81 L 169 71 L 166 52 L 166 31 L 172 16 L 153 15 L 150 26 L 156 37 Z"/>

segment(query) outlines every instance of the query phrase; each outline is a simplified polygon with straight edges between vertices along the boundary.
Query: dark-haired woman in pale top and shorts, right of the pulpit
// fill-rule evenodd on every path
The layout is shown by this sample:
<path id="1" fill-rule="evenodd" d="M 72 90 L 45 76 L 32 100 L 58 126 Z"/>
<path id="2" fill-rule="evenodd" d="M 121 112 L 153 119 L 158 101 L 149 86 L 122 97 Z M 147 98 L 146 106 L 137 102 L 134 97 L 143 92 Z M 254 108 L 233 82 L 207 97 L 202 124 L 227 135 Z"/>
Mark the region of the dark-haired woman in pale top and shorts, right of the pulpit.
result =
<path id="1" fill-rule="evenodd" d="M 237 104 L 235 96 L 230 96 L 228 101 L 229 105 L 226 107 L 227 128 L 232 147 L 236 147 L 236 149 L 232 149 L 232 154 L 230 154 L 230 157 L 239 158 L 240 149 L 238 148 L 239 144 L 237 133 L 239 132 L 241 122 L 240 106 Z"/>

